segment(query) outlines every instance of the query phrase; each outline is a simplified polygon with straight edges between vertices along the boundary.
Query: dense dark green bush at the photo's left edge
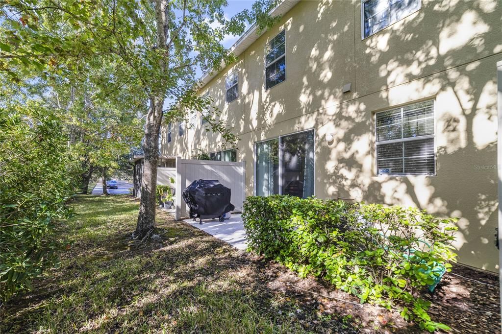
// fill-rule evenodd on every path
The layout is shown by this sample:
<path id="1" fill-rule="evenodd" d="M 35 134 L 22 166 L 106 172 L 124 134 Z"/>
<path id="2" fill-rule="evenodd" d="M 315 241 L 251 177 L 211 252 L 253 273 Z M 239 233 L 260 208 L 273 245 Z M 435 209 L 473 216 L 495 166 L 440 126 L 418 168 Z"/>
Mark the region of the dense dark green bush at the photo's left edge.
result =
<path id="1" fill-rule="evenodd" d="M 68 140 L 39 105 L 0 107 L 0 291 L 3 301 L 57 265 L 55 225 L 71 215 Z"/>

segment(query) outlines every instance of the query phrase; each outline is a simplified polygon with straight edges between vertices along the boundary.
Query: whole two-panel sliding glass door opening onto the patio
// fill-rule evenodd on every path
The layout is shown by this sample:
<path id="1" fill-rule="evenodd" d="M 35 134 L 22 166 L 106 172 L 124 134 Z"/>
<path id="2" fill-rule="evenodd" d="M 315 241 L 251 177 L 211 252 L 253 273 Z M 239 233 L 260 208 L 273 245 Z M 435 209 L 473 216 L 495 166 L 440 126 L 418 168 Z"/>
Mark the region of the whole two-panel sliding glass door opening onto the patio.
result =
<path id="1" fill-rule="evenodd" d="M 314 195 L 314 130 L 256 144 L 256 194 Z"/>

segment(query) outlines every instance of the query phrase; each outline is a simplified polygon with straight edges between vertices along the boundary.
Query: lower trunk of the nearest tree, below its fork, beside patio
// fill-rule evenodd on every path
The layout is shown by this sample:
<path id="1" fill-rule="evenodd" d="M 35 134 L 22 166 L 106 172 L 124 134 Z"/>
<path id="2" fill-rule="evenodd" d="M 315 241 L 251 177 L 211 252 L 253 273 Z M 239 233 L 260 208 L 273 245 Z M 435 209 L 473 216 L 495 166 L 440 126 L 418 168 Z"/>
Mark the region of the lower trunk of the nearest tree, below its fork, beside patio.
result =
<path id="1" fill-rule="evenodd" d="M 161 102 L 158 102 L 159 100 Z M 147 124 L 145 126 L 145 141 L 143 143 L 145 160 L 143 164 L 143 175 L 141 177 L 140 213 L 138 214 L 136 231 L 133 234 L 134 238 L 143 239 L 155 229 L 159 131 L 162 120 L 163 104 L 163 98 L 150 99 L 150 108 L 148 110 Z"/>

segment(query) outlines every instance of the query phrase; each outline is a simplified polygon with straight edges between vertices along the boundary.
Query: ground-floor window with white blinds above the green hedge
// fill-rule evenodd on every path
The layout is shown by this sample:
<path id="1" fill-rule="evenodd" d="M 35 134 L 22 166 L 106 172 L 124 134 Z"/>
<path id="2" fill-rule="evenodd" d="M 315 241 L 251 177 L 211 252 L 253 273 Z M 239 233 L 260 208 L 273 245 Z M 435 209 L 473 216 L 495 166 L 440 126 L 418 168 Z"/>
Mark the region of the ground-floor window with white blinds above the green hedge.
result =
<path id="1" fill-rule="evenodd" d="M 434 175 L 434 101 L 376 113 L 376 173 Z"/>

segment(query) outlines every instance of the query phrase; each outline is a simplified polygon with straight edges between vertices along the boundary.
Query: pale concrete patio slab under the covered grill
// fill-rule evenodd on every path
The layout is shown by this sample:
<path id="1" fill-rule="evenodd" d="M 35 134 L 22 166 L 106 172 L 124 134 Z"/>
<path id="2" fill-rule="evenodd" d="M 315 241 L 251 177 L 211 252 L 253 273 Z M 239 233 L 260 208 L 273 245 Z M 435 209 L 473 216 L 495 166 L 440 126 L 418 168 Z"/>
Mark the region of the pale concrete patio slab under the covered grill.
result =
<path id="1" fill-rule="evenodd" d="M 237 249 L 244 250 L 247 248 L 244 223 L 240 214 L 232 214 L 231 218 L 225 220 L 223 223 L 212 219 L 202 220 L 202 225 L 199 224 L 199 220 L 194 222 L 192 219 L 185 219 L 183 221 L 223 240 Z"/>

